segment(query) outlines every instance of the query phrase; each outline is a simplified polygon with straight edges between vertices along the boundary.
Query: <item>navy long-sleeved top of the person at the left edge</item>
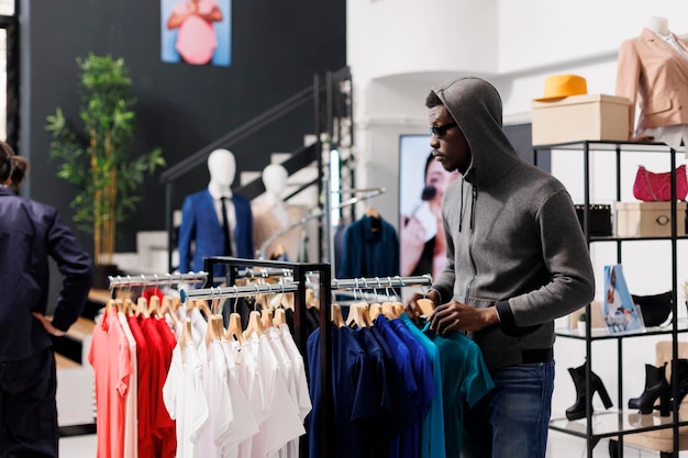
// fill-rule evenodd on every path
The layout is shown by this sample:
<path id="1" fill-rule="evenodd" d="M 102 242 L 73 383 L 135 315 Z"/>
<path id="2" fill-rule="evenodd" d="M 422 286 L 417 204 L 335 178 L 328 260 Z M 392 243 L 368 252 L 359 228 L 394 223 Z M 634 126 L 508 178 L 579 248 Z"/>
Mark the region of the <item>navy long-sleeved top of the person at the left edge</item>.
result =
<path id="1" fill-rule="evenodd" d="M 67 331 L 88 298 L 91 258 L 54 208 L 0 187 L 0 361 L 25 359 L 52 345 L 31 314 L 47 310 L 48 257 L 63 276 L 53 326 Z"/>

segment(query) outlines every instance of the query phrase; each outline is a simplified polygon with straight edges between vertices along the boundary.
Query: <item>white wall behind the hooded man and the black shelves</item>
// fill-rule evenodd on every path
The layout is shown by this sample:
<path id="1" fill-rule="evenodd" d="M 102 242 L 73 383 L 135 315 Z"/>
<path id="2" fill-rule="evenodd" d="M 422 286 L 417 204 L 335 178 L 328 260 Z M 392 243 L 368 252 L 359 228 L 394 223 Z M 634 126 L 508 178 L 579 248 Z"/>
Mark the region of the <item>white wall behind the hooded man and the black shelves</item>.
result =
<path id="1" fill-rule="evenodd" d="M 613 94 L 619 45 L 637 36 L 653 15 L 668 18 L 674 33 L 688 35 L 685 0 L 349 0 L 347 47 L 355 87 L 357 186 L 385 187 L 387 193 L 373 203 L 397 225 L 399 135 L 428 132 L 424 99 L 433 86 L 457 75 L 484 77 L 502 96 L 504 123 L 530 122 L 531 100 L 542 94 L 550 75 L 577 74 L 587 79 L 589 93 Z M 580 168 L 570 160 L 554 155 L 552 167 L 576 194 Z M 657 171 L 668 169 L 667 163 L 662 164 L 656 165 Z M 633 174 L 633 166 L 624 174 Z M 598 166 L 598 170 L 607 169 Z M 684 245 L 680 258 L 688 258 Z M 603 247 L 593 252 L 601 259 L 609 256 Z M 655 246 L 628 252 L 624 259 L 635 266 L 624 267 L 632 291 L 644 294 L 670 288 L 665 252 Z M 688 266 L 683 264 L 679 283 L 688 279 Z M 600 283 L 598 275 L 598 290 Z M 686 315 L 684 299 L 680 289 L 679 316 Z M 643 365 L 654 362 L 654 339 L 625 342 L 624 367 L 633 373 L 624 377 L 628 400 L 642 392 Z M 615 344 L 598 343 L 593 358 L 593 370 L 606 381 L 614 404 L 615 351 Z M 562 414 L 575 400 L 566 368 L 582 362 L 585 346 L 559 338 L 555 354 L 554 409 Z"/>

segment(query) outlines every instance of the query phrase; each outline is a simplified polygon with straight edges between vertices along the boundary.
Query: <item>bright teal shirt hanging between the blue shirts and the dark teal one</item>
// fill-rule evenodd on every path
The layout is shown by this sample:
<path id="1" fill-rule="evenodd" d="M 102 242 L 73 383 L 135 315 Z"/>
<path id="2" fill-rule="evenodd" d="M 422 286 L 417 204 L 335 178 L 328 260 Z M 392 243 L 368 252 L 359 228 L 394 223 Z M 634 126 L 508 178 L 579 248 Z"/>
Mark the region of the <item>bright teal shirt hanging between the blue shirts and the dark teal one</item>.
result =
<path id="1" fill-rule="evenodd" d="M 446 458 L 444 447 L 444 413 L 442 401 L 442 368 L 440 366 L 440 350 L 432 340 L 425 336 L 413 322 L 402 313 L 400 316 L 403 324 L 409 328 L 413 337 L 423 346 L 432 364 L 432 380 L 435 387 L 435 395 L 430 403 L 428 414 L 423 418 L 421 431 L 422 458 Z"/>

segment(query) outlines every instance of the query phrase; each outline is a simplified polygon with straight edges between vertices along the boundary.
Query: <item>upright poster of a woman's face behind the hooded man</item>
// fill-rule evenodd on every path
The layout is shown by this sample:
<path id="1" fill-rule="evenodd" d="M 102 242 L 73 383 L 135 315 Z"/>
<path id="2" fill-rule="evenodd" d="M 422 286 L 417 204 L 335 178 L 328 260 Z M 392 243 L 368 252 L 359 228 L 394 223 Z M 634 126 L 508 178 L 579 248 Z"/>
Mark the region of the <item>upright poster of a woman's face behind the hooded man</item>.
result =
<path id="1" fill-rule="evenodd" d="M 447 185 L 459 177 L 432 156 L 430 135 L 401 135 L 399 141 L 399 271 L 430 273 L 446 264 L 441 203 Z"/>

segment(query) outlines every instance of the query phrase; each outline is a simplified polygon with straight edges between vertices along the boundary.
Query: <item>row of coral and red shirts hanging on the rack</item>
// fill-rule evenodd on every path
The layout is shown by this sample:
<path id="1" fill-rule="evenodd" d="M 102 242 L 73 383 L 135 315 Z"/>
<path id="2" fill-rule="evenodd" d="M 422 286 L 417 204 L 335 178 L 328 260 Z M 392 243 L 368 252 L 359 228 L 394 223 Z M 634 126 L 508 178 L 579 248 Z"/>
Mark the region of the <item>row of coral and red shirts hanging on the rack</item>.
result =
<path id="1" fill-rule="evenodd" d="M 93 328 L 98 457 L 175 457 L 162 388 L 176 338 L 164 320 L 146 315 L 136 316 L 134 305 L 109 306 Z"/>

